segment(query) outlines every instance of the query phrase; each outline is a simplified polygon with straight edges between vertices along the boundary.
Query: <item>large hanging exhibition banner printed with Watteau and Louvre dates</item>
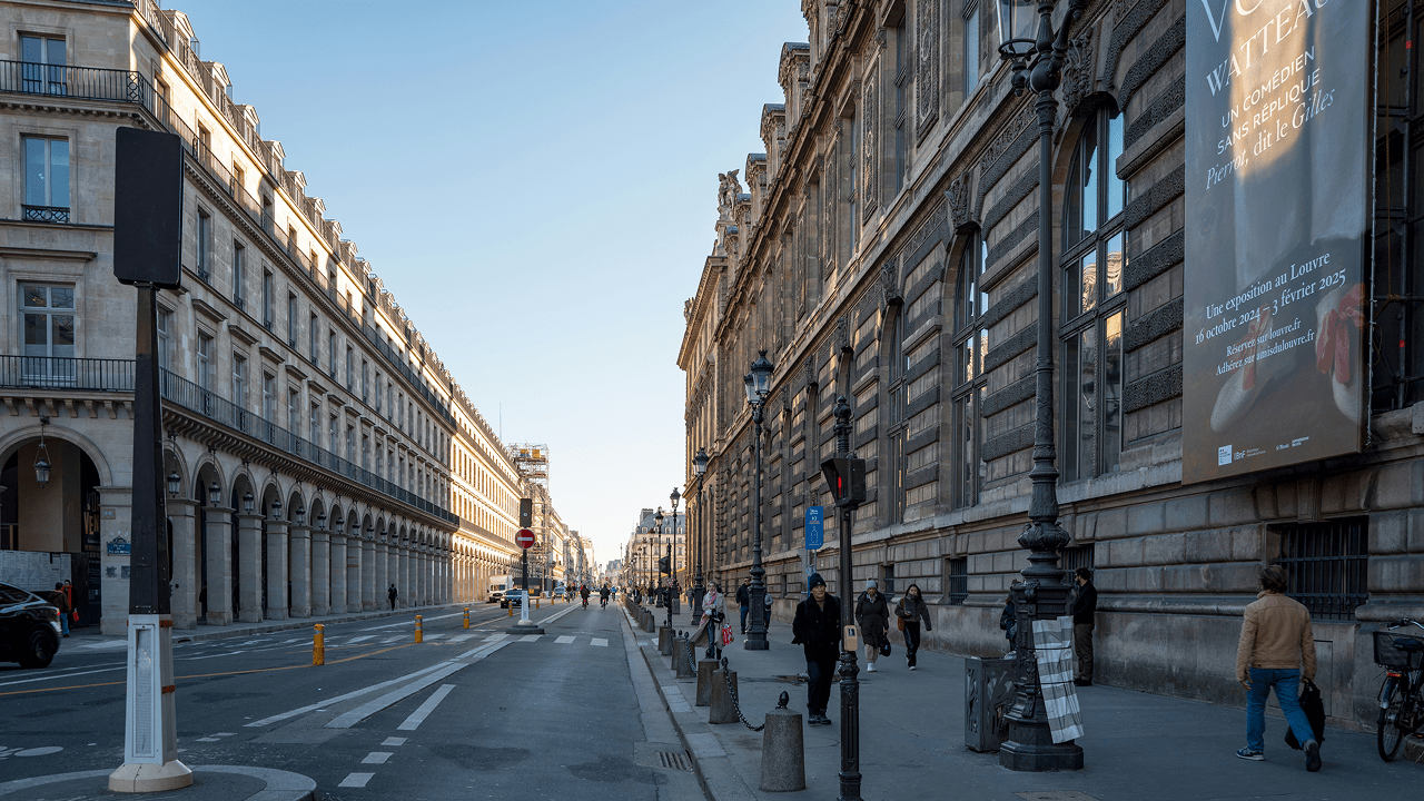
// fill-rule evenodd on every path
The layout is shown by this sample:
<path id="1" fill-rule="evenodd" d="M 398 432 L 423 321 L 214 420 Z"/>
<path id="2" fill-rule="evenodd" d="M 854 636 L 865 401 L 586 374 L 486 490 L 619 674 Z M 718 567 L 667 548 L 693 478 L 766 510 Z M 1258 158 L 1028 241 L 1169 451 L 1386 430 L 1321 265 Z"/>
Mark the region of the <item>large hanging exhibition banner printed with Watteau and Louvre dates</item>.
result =
<path id="1" fill-rule="evenodd" d="M 1186 3 L 1183 483 L 1363 446 L 1371 7 Z"/>

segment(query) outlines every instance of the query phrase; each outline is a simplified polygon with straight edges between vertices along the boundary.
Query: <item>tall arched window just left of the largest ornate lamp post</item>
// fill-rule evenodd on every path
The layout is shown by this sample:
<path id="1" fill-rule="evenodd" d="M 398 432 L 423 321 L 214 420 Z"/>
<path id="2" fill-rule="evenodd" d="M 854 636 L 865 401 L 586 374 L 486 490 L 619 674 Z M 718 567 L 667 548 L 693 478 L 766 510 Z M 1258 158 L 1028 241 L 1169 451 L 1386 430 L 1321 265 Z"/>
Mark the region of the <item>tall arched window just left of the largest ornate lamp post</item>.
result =
<path id="1" fill-rule="evenodd" d="M 975 235 L 960 255 L 958 278 L 954 285 L 954 378 L 953 398 L 953 497 L 954 509 L 973 506 L 984 480 L 980 459 L 981 408 L 984 403 L 984 353 L 988 331 L 980 318 L 988 311 L 988 294 L 983 289 L 984 262 L 988 244 Z"/>

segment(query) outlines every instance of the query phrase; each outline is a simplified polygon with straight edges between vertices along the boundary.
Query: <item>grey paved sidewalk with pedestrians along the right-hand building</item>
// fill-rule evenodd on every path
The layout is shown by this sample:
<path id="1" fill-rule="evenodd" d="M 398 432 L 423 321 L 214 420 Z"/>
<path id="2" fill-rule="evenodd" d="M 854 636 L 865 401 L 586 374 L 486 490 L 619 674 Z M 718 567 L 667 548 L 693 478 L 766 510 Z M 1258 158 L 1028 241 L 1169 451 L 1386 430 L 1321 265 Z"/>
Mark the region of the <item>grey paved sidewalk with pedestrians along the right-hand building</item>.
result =
<path id="1" fill-rule="evenodd" d="M 685 616 L 678 623 L 685 623 Z M 1078 741 L 1085 768 L 1075 772 L 1024 774 L 998 767 L 998 754 L 964 747 L 964 660 L 920 651 L 918 670 L 906 668 L 903 640 L 891 631 L 894 654 L 881 657 L 877 673 L 860 661 L 862 795 L 879 798 L 963 798 L 973 801 L 1202 801 L 1310 798 L 1413 798 L 1424 782 L 1424 767 L 1400 760 L 1386 764 L 1376 753 L 1374 733 L 1329 730 L 1321 747 L 1324 767 L 1310 774 L 1300 751 L 1283 743 L 1284 720 L 1266 718 L 1266 761 L 1237 760 L 1246 741 L 1246 713 L 1199 701 L 1149 696 L 1112 687 L 1081 687 L 1084 728 Z M 716 741 L 739 781 L 708 782 L 716 798 L 834 798 L 840 770 L 840 690 L 832 686 L 829 717 L 834 725 L 806 725 L 805 792 L 763 794 L 762 735 L 740 723 L 709 725 L 708 708 L 696 701 L 693 680 L 675 680 L 669 658 L 658 654 L 656 634 L 638 637 L 642 653 L 672 707 L 689 744 Z M 805 714 L 806 663 L 790 644 L 790 624 L 772 623 L 769 651 L 742 650 L 742 639 L 725 653 L 738 673 L 740 707 L 753 724 L 776 707 L 782 691 L 790 708 Z M 689 745 L 696 757 L 696 748 Z M 951 792 L 953 788 L 953 792 Z M 1055 795 L 1034 795 L 1054 792 Z M 1065 794 L 1068 792 L 1068 794 Z M 1078 792 L 1081 795 L 1072 794 Z"/>

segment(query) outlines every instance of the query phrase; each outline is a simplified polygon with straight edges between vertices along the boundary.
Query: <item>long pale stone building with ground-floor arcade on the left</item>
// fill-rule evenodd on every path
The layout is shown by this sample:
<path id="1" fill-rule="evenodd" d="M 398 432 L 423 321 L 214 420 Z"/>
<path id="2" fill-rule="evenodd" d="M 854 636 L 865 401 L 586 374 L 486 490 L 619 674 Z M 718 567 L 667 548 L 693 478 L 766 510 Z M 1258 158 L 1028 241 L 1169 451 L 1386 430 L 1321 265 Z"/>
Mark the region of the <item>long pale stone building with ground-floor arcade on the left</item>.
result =
<path id="1" fill-rule="evenodd" d="M 135 296 L 111 251 L 130 125 L 185 150 L 184 288 L 159 295 L 174 624 L 380 609 L 392 584 L 402 606 L 483 599 L 517 552 L 521 476 L 187 16 L 0 9 L 0 572 L 68 559 L 84 621 L 124 631 Z"/>

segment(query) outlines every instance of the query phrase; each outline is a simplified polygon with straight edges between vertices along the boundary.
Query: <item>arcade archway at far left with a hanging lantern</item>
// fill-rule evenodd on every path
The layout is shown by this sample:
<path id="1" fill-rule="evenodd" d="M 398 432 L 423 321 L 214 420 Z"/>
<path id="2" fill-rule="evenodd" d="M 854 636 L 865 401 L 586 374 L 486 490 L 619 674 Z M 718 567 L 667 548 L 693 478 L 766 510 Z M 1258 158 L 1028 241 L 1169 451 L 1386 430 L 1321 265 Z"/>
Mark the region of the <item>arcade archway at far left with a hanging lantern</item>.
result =
<path id="1" fill-rule="evenodd" d="M 0 576 L 26 576 L 23 589 L 50 593 L 68 580 L 78 620 L 98 624 L 100 596 L 100 473 L 83 448 L 54 436 L 44 440 L 48 482 L 36 476 L 40 438 L 28 439 L 4 458 L 0 467 Z M 58 556 L 51 557 L 51 554 Z M 43 574 L 43 579 L 36 576 Z"/>

